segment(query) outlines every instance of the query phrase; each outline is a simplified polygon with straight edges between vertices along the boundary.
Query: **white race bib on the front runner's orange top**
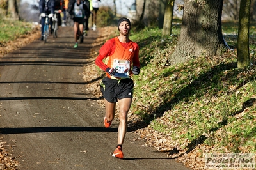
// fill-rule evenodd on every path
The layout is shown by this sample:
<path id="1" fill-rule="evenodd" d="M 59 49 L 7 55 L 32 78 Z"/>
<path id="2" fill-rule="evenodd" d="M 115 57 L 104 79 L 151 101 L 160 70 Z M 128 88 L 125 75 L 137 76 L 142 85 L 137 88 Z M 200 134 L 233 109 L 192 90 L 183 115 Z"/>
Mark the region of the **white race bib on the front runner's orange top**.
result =
<path id="1" fill-rule="evenodd" d="M 113 68 L 116 69 L 115 77 L 119 77 L 121 79 L 130 78 L 130 61 L 114 59 Z"/>

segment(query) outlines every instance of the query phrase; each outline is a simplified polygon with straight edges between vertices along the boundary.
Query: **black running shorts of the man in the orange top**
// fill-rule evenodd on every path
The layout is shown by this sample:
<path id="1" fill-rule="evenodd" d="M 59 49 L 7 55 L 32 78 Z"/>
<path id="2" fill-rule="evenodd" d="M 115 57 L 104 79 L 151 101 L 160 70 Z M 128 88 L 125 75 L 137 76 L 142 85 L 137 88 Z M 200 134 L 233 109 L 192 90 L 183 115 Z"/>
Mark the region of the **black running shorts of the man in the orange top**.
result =
<path id="1" fill-rule="evenodd" d="M 110 79 L 104 77 L 100 82 L 100 91 L 103 97 L 111 103 L 118 99 L 132 98 L 134 83 L 132 79 Z"/>

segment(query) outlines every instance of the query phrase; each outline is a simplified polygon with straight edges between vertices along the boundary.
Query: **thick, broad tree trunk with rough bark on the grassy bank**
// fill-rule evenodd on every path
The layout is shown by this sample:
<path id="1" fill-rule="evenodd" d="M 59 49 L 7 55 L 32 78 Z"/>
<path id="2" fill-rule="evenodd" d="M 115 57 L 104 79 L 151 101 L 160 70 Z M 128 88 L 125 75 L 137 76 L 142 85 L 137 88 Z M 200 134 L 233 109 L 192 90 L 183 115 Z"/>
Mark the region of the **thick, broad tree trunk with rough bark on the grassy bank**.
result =
<path id="1" fill-rule="evenodd" d="M 220 55 L 225 49 L 221 32 L 223 0 L 184 1 L 182 28 L 171 63 L 183 63 L 191 57 Z"/>

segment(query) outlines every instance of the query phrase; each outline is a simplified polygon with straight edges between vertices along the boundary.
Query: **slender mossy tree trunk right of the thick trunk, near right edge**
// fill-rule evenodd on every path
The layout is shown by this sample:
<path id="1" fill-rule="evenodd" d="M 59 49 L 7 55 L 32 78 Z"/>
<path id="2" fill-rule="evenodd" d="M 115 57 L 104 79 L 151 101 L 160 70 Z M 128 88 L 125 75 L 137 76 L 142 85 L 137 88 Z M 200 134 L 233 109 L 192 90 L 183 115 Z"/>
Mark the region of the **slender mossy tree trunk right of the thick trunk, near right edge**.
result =
<path id="1" fill-rule="evenodd" d="M 241 0 L 237 40 L 237 67 L 245 68 L 250 65 L 249 26 L 250 0 Z"/>

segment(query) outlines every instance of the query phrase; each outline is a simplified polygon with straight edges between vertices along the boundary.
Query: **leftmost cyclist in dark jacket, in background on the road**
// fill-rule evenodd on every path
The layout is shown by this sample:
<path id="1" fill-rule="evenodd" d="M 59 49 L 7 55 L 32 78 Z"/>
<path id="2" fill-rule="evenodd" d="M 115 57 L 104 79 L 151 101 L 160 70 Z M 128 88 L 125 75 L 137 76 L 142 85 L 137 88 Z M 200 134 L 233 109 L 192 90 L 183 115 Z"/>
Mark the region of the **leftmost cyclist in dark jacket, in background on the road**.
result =
<path id="1" fill-rule="evenodd" d="M 54 13 L 54 0 L 40 0 L 39 1 L 39 12 L 46 13 L 49 15 L 50 13 Z M 50 26 L 51 26 L 51 33 L 52 33 L 52 19 L 49 19 Z M 40 40 L 44 40 L 44 23 L 45 23 L 45 17 L 41 17 L 41 38 Z"/>

